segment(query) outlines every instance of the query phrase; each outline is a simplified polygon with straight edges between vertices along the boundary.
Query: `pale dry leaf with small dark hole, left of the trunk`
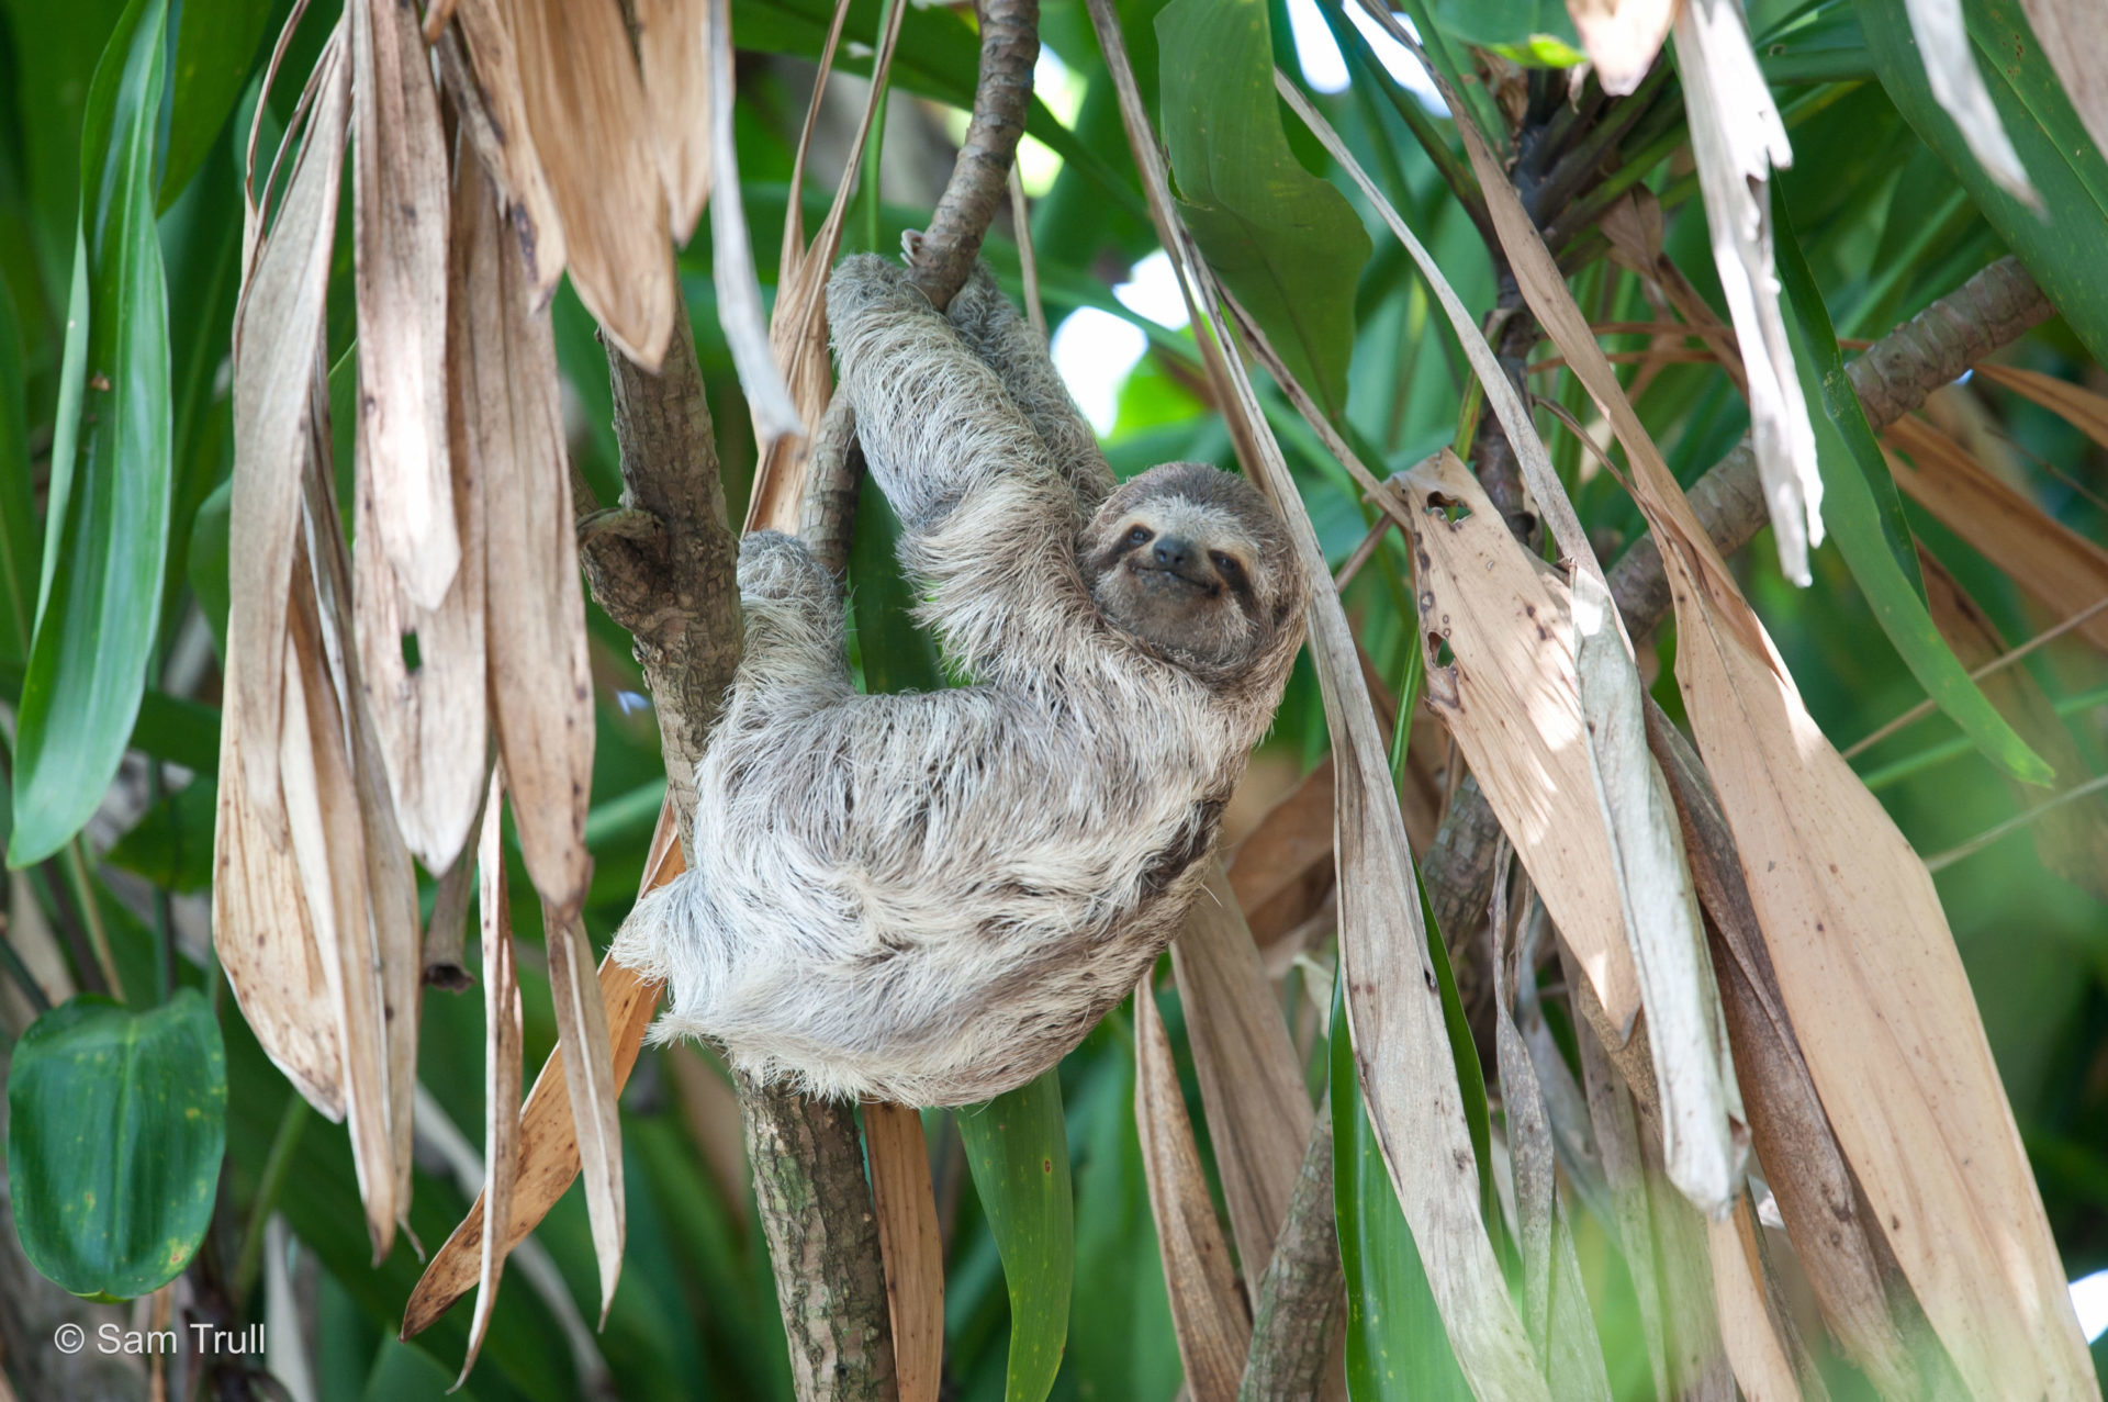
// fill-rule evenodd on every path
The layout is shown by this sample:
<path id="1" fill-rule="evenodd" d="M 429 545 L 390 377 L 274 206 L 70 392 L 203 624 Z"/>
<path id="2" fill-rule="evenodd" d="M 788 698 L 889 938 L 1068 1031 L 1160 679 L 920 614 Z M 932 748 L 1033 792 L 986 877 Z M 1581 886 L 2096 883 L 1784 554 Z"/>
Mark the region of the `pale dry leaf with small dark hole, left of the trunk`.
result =
<path id="1" fill-rule="evenodd" d="M 472 194 L 487 181 L 476 162 L 462 173 Z M 462 367 L 470 354 L 466 259 L 462 245 L 479 232 L 474 209 L 455 200 L 453 289 L 445 299 L 449 365 Z M 447 474 L 451 519 L 457 527 L 460 565 L 436 609 L 422 607 L 403 588 L 390 565 L 382 523 L 386 474 L 371 451 L 358 453 L 356 512 L 352 536 L 352 622 L 358 635 L 358 675 L 367 687 L 375 738 L 388 765 L 403 839 L 426 864 L 447 871 L 468 845 L 485 791 L 485 742 L 489 708 L 483 656 L 483 481 L 479 453 L 464 443 L 472 430 L 464 398 L 464 375 L 447 377 L 451 403 Z M 413 662 L 415 658 L 415 662 Z"/>

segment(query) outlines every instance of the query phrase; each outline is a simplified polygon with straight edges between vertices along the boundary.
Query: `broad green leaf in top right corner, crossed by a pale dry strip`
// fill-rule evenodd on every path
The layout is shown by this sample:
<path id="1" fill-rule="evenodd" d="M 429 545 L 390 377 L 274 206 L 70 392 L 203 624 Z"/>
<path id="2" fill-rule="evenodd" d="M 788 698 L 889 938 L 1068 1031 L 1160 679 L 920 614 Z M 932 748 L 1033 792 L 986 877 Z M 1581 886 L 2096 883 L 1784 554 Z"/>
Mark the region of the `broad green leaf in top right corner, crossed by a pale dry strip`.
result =
<path id="1" fill-rule="evenodd" d="M 1904 0 L 1859 0 L 1859 27 L 1874 72 L 1904 120 L 1939 152 L 1990 226 L 2019 255 L 2070 323 L 2087 352 L 2108 365 L 2108 278 L 2102 278 L 2102 223 L 2108 221 L 2108 162 L 2087 137 L 2041 44 L 2015 4 L 1963 6 L 1977 67 L 2028 179 L 2043 196 L 2036 213 L 1998 190 L 1963 143 L 1954 120 L 1933 99 L 1910 36 Z"/>

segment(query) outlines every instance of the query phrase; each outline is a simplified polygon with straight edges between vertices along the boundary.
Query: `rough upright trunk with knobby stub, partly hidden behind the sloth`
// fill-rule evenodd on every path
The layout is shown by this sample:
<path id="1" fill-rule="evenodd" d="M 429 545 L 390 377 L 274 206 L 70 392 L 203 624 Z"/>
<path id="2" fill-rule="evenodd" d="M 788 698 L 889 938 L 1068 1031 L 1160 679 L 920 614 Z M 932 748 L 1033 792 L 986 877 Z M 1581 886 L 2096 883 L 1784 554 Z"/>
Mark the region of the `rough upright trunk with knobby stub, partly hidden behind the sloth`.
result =
<path id="1" fill-rule="evenodd" d="M 740 660 L 738 538 L 685 308 L 660 373 L 613 346 L 622 504 L 580 517 L 592 595 L 630 630 L 691 852 L 696 759 Z M 740 1079 L 740 1117 L 801 1402 L 894 1396 L 892 1326 L 856 1111 Z"/>

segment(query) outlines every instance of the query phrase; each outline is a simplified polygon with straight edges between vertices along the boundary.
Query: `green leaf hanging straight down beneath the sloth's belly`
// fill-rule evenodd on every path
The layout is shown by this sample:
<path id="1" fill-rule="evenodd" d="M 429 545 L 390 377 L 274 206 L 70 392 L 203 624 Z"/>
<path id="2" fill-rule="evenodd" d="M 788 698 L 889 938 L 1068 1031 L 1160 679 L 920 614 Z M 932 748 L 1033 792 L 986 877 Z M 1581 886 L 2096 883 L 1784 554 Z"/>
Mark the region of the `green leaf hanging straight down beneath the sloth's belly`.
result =
<path id="1" fill-rule="evenodd" d="M 1043 1402 L 1069 1339 L 1075 1280 L 1075 1197 L 1060 1075 L 957 1111 L 974 1191 L 989 1216 L 1010 1288 L 1010 1375 L 1003 1402 Z"/>

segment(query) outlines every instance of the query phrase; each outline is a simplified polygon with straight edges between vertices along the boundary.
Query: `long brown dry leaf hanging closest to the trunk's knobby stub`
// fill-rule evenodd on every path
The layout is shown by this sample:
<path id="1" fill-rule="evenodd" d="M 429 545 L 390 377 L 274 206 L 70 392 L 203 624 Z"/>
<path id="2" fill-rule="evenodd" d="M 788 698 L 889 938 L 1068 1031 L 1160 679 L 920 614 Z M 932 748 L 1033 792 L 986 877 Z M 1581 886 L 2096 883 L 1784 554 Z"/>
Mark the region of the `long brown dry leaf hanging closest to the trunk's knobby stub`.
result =
<path id="1" fill-rule="evenodd" d="M 483 485 L 491 719 L 527 875 L 542 900 L 575 909 L 590 871 L 592 673 L 557 346 L 548 312 L 529 310 L 519 245 L 472 160 L 457 202 L 453 276 L 468 308 L 457 415 L 468 474 Z"/>

